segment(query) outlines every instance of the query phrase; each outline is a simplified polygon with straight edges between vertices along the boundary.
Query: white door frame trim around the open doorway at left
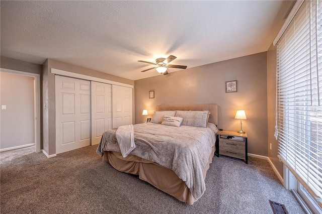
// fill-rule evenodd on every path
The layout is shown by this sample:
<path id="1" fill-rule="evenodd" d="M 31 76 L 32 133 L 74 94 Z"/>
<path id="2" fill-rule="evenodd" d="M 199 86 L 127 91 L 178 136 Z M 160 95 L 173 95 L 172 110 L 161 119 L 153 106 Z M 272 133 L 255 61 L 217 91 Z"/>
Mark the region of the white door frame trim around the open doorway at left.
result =
<path id="1" fill-rule="evenodd" d="M 6 72 L 6 73 L 12 73 L 12 74 L 18 74 L 23 76 L 31 76 L 35 77 L 34 82 L 34 114 L 35 114 L 35 120 L 34 120 L 34 127 L 35 127 L 35 152 L 41 152 L 40 151 L 40 74 L 36 73 L 29 73 L 29 72 L 23 72 L 23 71 L 16 71 L 11 70 L 7 68 L 0 68 L 0 72 Z"/>

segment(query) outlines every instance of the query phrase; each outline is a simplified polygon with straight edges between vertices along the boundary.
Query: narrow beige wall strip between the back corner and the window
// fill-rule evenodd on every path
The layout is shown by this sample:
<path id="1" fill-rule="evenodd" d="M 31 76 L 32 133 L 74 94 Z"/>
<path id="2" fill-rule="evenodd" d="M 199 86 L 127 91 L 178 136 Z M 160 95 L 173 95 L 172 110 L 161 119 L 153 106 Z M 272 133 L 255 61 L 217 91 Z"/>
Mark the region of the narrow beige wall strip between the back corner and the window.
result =
<path id="1" fill-rule="evenodd" d="M 267 123 L 268 123 L 268 157 L 283 177 L 283 164 L 278 160 L 278 141 L 275 133 L 276 103 L 276 46 L 271 45 L 267 51 Z M 270 149 L 272 144 L 272 149 Z"/>

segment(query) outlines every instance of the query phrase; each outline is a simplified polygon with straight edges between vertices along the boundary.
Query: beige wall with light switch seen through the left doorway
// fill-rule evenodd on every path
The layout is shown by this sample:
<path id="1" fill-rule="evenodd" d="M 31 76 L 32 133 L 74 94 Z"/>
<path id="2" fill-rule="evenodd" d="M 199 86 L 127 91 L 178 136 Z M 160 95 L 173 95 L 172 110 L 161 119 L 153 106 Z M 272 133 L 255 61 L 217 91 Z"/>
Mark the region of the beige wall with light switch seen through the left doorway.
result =
<path id="1" fill-rule="evenodd" d="M 35 143 L 34 129 L 35 77 L 0 72 L 0 149 Z"/>

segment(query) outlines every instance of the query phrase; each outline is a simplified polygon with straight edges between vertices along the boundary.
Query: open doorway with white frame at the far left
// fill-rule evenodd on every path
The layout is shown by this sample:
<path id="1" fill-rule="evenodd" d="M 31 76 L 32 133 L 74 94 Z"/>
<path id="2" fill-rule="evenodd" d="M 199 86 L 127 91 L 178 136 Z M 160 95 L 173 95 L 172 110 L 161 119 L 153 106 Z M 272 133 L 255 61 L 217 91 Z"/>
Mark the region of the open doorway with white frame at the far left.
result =
<path id="1" fill-rule="evenodd" d="M 28 73 L 28 72 L 22 72 L 22 71 L 16 71 L 16 70 L 10 70 L 10 69 L 5 69 L 5 68 L 0 68 L 0 80 L 2 77 L 9 77 L 9 76 L 16 76 L 16 77 L 22 77 L 22 78 L 17 78 L 18 79 L 30 79 L 30 81 L 27 83 L 29 84 L 28 91 L 23 91 L 20 85 L 15 83 L 15 78 L 11 78 L 10 86 L 13 91 L 8 91 L 8 88 L 4 88 L 8 82 L 2 81 L 2 85 L 0 85 L 0 92 L 2 96 L 0 97 L 1 100 L 1 110 L 0 110 L 0 117 L 1 119 L 1 124 L 0 124 L 0 133 L 1 133 L 1 138 L 0 138 L 0 151 L 6 151 L 6 150 L 11 150 L 11 149 L 18 149 L 30 145 L 35 145 L 35 152 L 40 152 L 40 74 L 34 74 L 34 73 Z M 14 86 L 14 87 L 12 87 Z M 15 88 L 16 87 L 16 88 Z M 5 90 L 4 90 L 5 89 Z M 23 96 L 19 96 L 20 93 L 17 91 L 21 92 Z M 13 92 L 13 93 L 11 93 Z M 17 98 L 19 99 L 17 102 L 16 97 L 7 97 L 6 95 L 11 96 L 11 94 L 18 94 Z M 27 97 L 24 97 L 26 94 Z M 23 100 L 26 98 L 25 100 Z M 31 100 L 30 100 L 31 99 Z M 7 105 L 9 102 L 10 104 Z M 27 110 L 27 106 L 24 106 L 24 104 L 29 103 L 28 105 L 31 106 Z M 31 102 L 31 103 L 30 103 Z M 18 112 L 20 112 L 26 107 L 26 113 L 22 113 L 22 116 L 18 115 Z M 33 108 L 30 110 L 30 108 Z M 7 118 L 5 118 L 7 117 Z M 31 117 L 31 123 L 28 123 L 29 126 L 31 127 L 26 127 L 23 126 L 24 123 L 22 122 L 22 118 L 26 118 L 28 120 L 28 117 L 30 119 Z M 4 119 L 4 120 L 3 120 Z M 32 123 L 33 121 L 33 123 Z M 15 124 L 22 125 L 21 127 L 16 127 Z M 10 129 L 8 129 L 10 127 Z M 12 131 L 8 131 L 12 130 Z M 26 132 L 23 132 L 26 131 Z M 12 132 L 12 133 L 11 133 Z M 25 137 L 28 139 L 31 139 L 29 143 L 22 143 L 22 145 L 19 144 L 10 144 L 10 139 L 15 138 L 16 136 L 22 135 L 24 133 Z M 5 142 L 6 141 L 6 142 Z M 8 144 L 8 145 L 6 145 Z"/>

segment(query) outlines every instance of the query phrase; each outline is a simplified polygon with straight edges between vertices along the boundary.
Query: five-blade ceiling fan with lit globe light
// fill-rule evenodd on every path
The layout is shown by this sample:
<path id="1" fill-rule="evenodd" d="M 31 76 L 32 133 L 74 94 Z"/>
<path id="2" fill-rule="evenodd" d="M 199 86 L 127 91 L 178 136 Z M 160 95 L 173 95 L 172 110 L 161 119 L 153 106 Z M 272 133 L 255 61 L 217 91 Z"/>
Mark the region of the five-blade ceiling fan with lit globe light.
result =
<path id="1" fill-rule="evenodd" d="M 145 72 L 145 71 L 148 71 L 148 70 L 151 70 L 151 69 L 156 69 L 157 72 L 159 72 L 160 74 L 163 74 L 163 75 L 167 75 L 169 74 L 168 73 L 168 68 L 181 68 L 181 69 L 186 69 L 187 66 L 186 65 L 169 65 L 168 63 L 171 62 L 172 60 L 176 59 L 177 57 L 176 56 L 173 56 L 173 55 L 170 55 L 168 56 L 168 58 L 157 58 L 155 60 L 155 63 L 153 62 L 147 62 L 147 61 L 142 61 L 142 60 L 139 60 L 138 62 L 144 62 L 144 63 L 149 63 L 149 64 L 152 64 L 152 65 L 156 65 L 155 67 L 153 68 L 149 68 L 149 69 L 146 69 L 144 71 L 141 71 L 141 72 Z"/>

